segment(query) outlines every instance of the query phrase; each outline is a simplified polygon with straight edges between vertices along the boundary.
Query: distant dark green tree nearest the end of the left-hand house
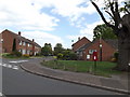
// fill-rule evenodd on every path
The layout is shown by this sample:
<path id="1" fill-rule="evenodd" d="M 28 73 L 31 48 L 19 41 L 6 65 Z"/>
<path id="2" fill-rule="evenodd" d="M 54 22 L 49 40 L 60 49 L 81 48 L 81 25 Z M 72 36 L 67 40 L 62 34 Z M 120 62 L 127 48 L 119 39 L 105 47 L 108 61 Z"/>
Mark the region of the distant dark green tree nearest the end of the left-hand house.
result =
<path id="1" fill-rule="evenodd" d="M 52 55 L 52 46 L 51 43 L 44 43 L 44 46 L 41 48 L 41 54 L 43 56 Z"/>

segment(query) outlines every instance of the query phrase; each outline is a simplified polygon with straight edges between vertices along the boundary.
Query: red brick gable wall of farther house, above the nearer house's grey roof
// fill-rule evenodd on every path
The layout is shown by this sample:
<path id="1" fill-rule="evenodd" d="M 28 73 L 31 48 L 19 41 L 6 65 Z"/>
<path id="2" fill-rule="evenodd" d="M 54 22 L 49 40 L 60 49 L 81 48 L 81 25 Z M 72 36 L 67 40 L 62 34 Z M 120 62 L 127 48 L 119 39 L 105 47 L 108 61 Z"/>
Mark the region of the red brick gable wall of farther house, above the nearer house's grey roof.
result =
<path id="1" fill-rule="evenodd" d="M 87 43 L 90 43 L 90 41 L 83 37 L 73 45 L 73 51 L 76 51 L 77 48 L 81 47 L 83 44 L 87 44 Z"/>

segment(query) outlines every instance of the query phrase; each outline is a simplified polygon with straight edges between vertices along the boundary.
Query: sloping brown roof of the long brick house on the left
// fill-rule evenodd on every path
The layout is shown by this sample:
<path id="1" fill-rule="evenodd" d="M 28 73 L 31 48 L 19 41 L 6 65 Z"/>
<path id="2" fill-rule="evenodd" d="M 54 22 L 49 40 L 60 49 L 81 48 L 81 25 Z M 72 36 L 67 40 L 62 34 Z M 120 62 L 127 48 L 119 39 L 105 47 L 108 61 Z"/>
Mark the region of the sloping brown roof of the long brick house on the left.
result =
<path id="1" fill-rule="evenodd" d="M 25 42 L 31 43 L 31 44 L 34 44 L 34 45 L 36 45 L 36 46 L 38 46 L 38 47 L 41 47 L 38 43 L 32 42 L 31 40 L 26 39 L 25 37 L 22 37 L 22 36 L 20 36 L 20 34 L 16 34 L 16 33 L 8 30 L 8 29 L 5 29 L 4 31 L 11 32 L 15 38 L 17 38 L 17 39 L 21 40 L 21 41 L 25 41 Z"/>

